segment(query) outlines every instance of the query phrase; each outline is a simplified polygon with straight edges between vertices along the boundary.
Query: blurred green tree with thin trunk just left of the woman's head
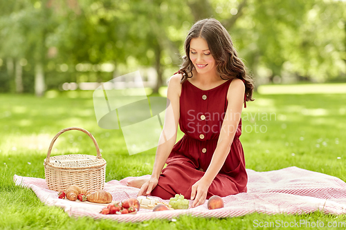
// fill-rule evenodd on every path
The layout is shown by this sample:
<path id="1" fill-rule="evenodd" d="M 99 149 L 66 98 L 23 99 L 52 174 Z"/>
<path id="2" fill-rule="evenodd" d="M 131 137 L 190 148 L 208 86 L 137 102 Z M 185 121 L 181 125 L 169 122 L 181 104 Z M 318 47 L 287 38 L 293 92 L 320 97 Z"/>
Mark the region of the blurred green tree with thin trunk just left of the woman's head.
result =
<path id="1" fill-rule="evenodd" d="M 176 68 L 180 62 L 179 47 L 183 43 L 183 23 L 192 21 L 186 14 L 188 8 L 184 5 L 184 1 L 131 1 L 130 12 L 133 20 L 129 25 L 129 34 L 133 44 L 137 44 L 133 55 L 140 64 L 155 66 L 157 84 L 154 93 L 163 85 L 164 68 Z"/>

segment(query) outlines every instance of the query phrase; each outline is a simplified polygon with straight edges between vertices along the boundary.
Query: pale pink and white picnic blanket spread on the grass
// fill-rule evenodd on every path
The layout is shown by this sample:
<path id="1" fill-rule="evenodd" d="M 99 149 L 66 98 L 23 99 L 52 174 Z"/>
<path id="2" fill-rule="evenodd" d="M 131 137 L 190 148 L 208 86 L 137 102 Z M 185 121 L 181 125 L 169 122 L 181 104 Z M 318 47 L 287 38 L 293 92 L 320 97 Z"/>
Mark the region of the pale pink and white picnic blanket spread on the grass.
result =
<path id="1" fill-rule="evenodd" d="M 95 219 L 107 218 L 119 222 L 139 222 L 152 219 L 171 219 L 179 215 L 198 217 L 235 217 L 248 213 L 288 213 L 302 214 L 313 211 L 324 213 L 346 213 L 346 183 L 339 178 L 323 173 L 316 173 L 295 166 L 277 171 L 257 172 L 247 169 L 248 192 L 224 197 L 225 207 L 208 210 L 207 201 L 195 208 L 172 211 L 140 209 L 138 213 L 122 215 L 102 215 L 104 206 L 85 204 L 57 198 L 57 192 L 51 191 L 42 178 L 28 178 L 14 175 L 13 180 L 19 186 L 25 186 L 36 193 L 39 200 L 47 205 L 61 207 L 70 216 L 89 216 Z M 149 178 L 149 175 L 143 177 Z M 136 198 L 139 189 L 126 186 L 129 180 L 111 180 L 104 185 L 104 190 L 113 195 L 114 201 Z M 158 200 L 168 203 L 169 200 Z M 190 200 L 190 207 L 192 205 Z"/>

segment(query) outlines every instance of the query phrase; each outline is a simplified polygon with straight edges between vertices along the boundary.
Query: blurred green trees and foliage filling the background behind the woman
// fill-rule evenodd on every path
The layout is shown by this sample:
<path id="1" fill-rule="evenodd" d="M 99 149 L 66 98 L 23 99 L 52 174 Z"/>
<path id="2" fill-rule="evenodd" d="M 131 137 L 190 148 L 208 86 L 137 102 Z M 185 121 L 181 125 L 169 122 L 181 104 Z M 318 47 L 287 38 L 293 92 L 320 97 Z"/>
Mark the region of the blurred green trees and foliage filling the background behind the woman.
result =
<path id="1" fill-rule="evenodd" d="M 26 92 L 33 90 L 32 81 L 25 78 L 33 75 L 37 62 L 44 64 L 47 89 L 64 82 L 107 82 L 140 66 L 156 68 L 161 81 L 179 67 L 190 26 L 206 17 L 224 23 L 257 84 L 297 77 L 345 81 L 345 1 L 20 0 L 0 4 L 0 70 L 8 75 L 1 77 L 6 82 L 2 91 L 15 88 L 10 87 L 13 71 L 6 66 L 11 58 L 24 60 Z M 106 63 L 113 67 L 104 71 L 101 66 Z M 89 67 L 80 70 L 78 64 Z M 163 84 L 160 81 L 158 86 Z"/>

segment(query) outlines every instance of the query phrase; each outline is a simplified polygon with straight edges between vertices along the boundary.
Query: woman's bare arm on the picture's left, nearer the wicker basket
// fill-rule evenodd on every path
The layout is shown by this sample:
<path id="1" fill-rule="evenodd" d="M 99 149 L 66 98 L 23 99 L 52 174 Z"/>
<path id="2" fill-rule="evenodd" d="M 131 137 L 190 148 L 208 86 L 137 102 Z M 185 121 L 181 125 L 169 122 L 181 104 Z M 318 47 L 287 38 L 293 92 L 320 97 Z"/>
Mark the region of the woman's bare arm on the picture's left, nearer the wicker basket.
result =
<path id="1" fill-rule="evenodd" d="M 176 132 L 180 117 L 179 98 L 181 95 L 181 74 L 171 77 L 167 88 L 167 108 L 165 111 L 165 122 L 156 148 L 155 162 L 152 176 L 148 182 L 145 182 L 140 188 L 138 195 L 147 195 L 158 183 L 158 177 L 161 174 L 163 166 L 170 155 L 176 141 Z M 146 194 L 144 194 L 146 193 Z"/>

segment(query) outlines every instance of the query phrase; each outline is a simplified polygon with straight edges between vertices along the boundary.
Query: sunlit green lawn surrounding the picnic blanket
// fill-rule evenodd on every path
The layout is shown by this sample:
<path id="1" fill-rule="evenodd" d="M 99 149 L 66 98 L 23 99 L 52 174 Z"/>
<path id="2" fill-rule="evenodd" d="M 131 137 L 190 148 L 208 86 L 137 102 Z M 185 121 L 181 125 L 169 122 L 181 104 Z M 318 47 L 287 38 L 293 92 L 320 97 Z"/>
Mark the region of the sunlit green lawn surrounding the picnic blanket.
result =
<path id="1" fill-rule="evenodd" d="M 346 94 L 255 94 L 255 99 L 248 103 L 242 115 L 241 141 L 248 169 L 270 171 L 298 166 L 346 181 Z M 107 181 L 151 173 L 155 149 L 129 155 L 121 131 L 99 128 L 92 92 L 53 98 L 0 95 L 0 229 L 254 229 L 256 221 L 265 224 L 306 220 L 324 222 L 327 226 L 327 222 L 346 220 L 346 215 L 320 212 L 253 213 L 222 219 L 181 216 L 176 221 L 139 223 L 70 218 L 62 209 L 42 204 L 30 189 L 12 182 L 14 174 L 44 178 L 43 161 L 51 139 L 69 126 L 80 126 L 93 133 L 102 157 L 107 160 Z M 181 136 L 179 133 L 178 138 Z M 52 155 L 95 154 L 94 149 L 84 133 L 70 131 L 57 139 Z"/>

